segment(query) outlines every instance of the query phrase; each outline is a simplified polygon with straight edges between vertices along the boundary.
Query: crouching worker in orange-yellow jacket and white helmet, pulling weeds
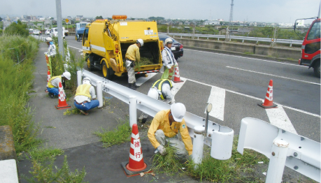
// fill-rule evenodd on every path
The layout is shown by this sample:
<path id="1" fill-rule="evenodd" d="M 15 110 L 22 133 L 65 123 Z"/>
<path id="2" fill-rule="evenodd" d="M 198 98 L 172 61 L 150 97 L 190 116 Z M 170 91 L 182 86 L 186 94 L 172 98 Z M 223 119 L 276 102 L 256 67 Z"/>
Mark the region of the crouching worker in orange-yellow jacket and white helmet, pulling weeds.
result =
<path id="1" fill-rule="evenodd" d="M 176 149 L 176 155 L 179 159 L 192 155 L 192 140 L 183 119 L 185 113 L 186 108 L 183 103 L 173 103 L 170 110 L 157 112 L 148 130 L 148 138 L 152 146 L 157 148 L 155 152 L 158 151 L 164 156 L 166 154 L 164 146 L 168 144 Z M 183 142 L 177 136 L 178 131 L 180 131 Z"/>

